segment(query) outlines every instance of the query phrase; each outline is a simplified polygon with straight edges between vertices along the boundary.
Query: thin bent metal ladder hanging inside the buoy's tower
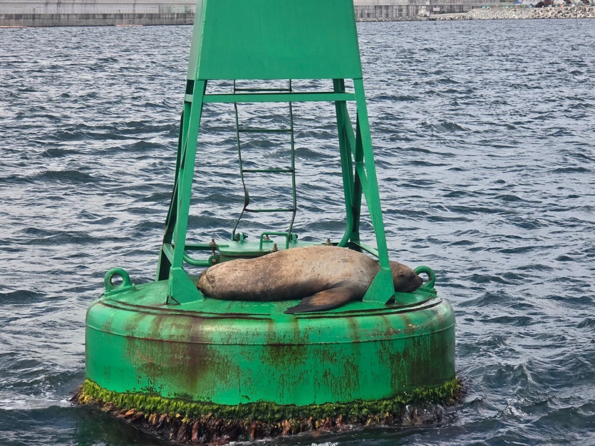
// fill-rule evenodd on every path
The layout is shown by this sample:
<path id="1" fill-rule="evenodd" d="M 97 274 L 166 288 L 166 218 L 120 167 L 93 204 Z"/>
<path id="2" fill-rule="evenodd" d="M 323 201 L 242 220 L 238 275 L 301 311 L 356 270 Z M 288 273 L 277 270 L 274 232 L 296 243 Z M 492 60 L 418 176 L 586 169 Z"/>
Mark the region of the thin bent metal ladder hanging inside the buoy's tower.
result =
<path id="1" fill-rule="evenodd" d="M 288 88 L 239 88 L 236 86 L 236 81 L 233 81 L 233 93 L 238 92 L 246 92 L 246 93 L 262 93 L 262 92 L 293 92 L 292 90 L 292 81 L 289 80 L 289 87 Z M 240 216 L 237 218 L 236 225 L 231 232 L 231 240 L 234 241 L 243 241 L 243 234 L 236 233 L 237 228 L 240 224 L 240 220 L 245 212 L 291 212 L 291 220 L 289 222 L 289 229 L 287 233 L 268 233 L 268 234 L 277 234 L 277 235 L 286 235 L 286 247 L 289 247 L 289 241 L 295 241 L 296 235 L 292 233 L 293 222 L 295 221 L 296 211 L 297 211 L 297 202 L 296 202 L 296 172 L 295 172 L 295 140 L 293 136 L 293 107 L 292 103 L 289 103 L 289 128 L 249 128 L 249 127 L 240 127 L 240 120 L 239 120 L 239 113 L 237 109 L 237 102 L 233 103 L 234 112 L 236 114 L 236 141 L 237 141 L 237 157 L 239 159 L 239 167 L 240 167 L 240 178 L 242 178 L 242 187 L 244 189 L 244 206 L 242 208 L 242 212 Z M 289 168 L 286 167 L 266 167 L 266 168 L 259 168 L 259 169 L 245 169 L 243 167 L 242 161 L 242 140 L 240 139 L 240 134 L 242 133 L 288 133 L 290 136 L 290 155 L 291 155 L 291 164 Z M 250 194 L 248 192 L 248 188 L 246 187 L 245 181 L 245 174 L 255 174 L 255 173 L 267 173 L 267 174 L 290 174 L 292 177 L 292 207 L 291 208 L 259 208 L 253 209 L 249 208 L 250 205 Z"/>

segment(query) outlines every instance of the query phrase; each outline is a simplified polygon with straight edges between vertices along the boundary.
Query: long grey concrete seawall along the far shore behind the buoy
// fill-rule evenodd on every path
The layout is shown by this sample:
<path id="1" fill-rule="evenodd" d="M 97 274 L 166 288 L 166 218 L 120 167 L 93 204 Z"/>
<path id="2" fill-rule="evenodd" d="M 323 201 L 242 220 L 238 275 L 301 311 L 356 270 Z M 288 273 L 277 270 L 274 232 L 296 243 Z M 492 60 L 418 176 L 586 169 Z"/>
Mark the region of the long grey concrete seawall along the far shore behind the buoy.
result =
<path id="1" fill-rule="evenodd" d="M 324 1 L 324 0 L 321 0 Z M 498 0 L 355 0 L 357 18 L 466 12 Z M 192 24 L 196 1 L 0 0 L 0 26 L 101 26 Z"/>

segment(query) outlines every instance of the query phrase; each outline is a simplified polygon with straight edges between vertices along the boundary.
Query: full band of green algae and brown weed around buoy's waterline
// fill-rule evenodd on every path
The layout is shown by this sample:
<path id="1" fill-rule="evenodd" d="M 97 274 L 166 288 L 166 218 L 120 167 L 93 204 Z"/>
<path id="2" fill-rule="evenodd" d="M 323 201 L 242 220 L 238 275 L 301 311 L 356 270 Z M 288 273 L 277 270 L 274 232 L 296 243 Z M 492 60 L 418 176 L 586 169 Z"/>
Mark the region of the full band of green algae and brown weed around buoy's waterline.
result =
<path id="1" fill-rule="evenodd" d="M 411 426 L 437 422 L 443 416 L 443 406 L 455 403 L 460 390 L 455 378 L 439 387 L 381 401 L 303 407 L 267 403 L 219 406 L 155 395 L 118 394 L 87 379 L 73 401 L 96 404 L 104 412 L 173 442 L 223 444 L 309 431 L 343 430 L 355 425 Z"/>

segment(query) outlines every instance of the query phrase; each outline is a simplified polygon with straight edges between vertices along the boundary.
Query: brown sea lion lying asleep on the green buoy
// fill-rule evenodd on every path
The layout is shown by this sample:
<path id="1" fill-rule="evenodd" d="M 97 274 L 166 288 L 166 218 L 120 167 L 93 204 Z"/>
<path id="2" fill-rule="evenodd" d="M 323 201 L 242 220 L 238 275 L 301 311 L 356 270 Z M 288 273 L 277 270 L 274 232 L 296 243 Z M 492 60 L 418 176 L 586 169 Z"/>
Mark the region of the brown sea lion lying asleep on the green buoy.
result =
<path id="1" fill-rule="evenodd" d="M 423 283 L 402 263 L 391 261 L 390 269 L 395 291 L 414 291 Z M 330 310 L 362 299 L 378 271 L 378 260 L 361 252 L 319 245 L 211 266 L 197 286 L 214 299 L 302 299 L 284 312 L 293 314 Z"/>

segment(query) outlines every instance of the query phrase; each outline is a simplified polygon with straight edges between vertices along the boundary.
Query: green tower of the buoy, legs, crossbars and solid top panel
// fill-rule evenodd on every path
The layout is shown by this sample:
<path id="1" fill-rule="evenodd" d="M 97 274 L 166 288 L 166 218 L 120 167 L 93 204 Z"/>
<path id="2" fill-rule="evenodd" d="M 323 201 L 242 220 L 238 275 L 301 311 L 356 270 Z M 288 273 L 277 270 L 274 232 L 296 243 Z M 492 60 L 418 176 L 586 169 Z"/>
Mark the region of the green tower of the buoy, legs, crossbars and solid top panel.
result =
<path id="1" fill-rule="evenodd" d="M 229 94 L 206 93 L 211 81 L 303 79 L 327 80 L 333 89 L 315 92 L 244 89 Z M 346 79 L 353 81 L 353 92 L 346 90 Z M 364 250 L 380 260 L 381 269 L 364 300 L 386 303 L 394 297 L 352 1 L 203 0 L 198 2 L 196 10 L 180 120 L 176 178 L 157 273 L 157 280 L 169 281 L 168 303 L 203 299 L 184 271 L 184 262 L 210 266 L 220 261 L 217 256 L 196 260 L 187 255 L 188 251 L 214 248 L 212 243 L 186 244 L 195 159 L 201 155 L 200 150 L 197 153 L 197 141 L 203 104 L 315 101 L 334 102 L 337 115 L 346 228 L 342 239 L 335 244 Z M 349 101 L 356 103 L 355 131 L 347 112 Z M 362 243 L 359 237 L 362 195 L 377 247 Z M 263 235 L 270 233 L 261 234 L 261 240 Z M 274 235 L 285 236 L 286 243 L 280 243 L 281 249 L 297 246 L 292 234 Z M 262 248 L 262 242 L 258 249 L 243 240 L 231 240 L 225 247 L 227 258 L 233 258 L 234 252 L 243 257 L 246 252 L 252 252 L 252 256 L 270 252 L 270 244 Z"/>

